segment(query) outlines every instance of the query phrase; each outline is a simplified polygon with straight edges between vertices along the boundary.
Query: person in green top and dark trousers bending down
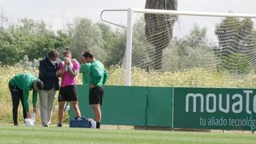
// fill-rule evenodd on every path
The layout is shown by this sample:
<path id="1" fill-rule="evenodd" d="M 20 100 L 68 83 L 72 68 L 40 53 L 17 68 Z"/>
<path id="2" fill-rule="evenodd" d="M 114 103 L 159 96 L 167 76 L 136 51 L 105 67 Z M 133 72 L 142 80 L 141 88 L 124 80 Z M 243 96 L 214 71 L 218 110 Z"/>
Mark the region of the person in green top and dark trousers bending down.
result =
<path id="1" fill-rule="evenodd" d="M 31 118 L 29 109 L 29 91 L 33 90 L 33 112 L 37 114 L 37 90 L 43 89 L 43 82 L 40 81 L 33 74 L 17 74 L 14 78 L 10 79 L 9 88 L 13 102 L 13 120 L 14 126 L 18 126 L 18 105 L 19 101 L 22 102 L 23 118 Z"/>

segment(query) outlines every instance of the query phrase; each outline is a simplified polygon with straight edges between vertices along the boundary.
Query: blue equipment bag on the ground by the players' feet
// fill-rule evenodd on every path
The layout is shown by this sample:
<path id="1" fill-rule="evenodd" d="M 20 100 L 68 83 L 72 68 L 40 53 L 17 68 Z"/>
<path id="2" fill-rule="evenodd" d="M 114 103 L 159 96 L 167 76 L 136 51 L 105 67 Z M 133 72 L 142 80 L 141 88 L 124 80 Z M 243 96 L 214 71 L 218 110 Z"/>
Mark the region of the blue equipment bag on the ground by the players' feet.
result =
<path id="1" fill-rule="evenodd" d="M 70 120 L 70 127 L 91 128 L 91 120 L 85 117 L 74 118 Z"/>

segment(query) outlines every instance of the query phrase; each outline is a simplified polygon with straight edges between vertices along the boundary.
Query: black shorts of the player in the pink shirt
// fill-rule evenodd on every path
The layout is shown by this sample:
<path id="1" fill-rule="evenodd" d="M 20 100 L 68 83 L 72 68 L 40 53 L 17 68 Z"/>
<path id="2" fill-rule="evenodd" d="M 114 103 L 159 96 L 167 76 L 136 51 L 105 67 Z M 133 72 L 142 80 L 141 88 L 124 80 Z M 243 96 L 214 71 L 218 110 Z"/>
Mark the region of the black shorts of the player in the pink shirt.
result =
<path id="1" fill-rule="evenodd" d="M 58 94 L 58 102 L 78 101 L 78 90 L 76 85 L 61 87 Z"/>

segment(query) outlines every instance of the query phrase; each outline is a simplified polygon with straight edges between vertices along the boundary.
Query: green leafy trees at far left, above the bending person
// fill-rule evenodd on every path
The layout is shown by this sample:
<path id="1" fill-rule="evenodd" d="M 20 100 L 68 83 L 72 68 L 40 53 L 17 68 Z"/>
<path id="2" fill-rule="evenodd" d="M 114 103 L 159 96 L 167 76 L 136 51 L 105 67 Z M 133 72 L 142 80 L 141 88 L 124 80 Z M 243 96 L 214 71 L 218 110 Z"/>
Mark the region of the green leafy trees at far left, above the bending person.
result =
<path id="1" fill-rule="evenodd" d="M 30 59 L 42 58 L 49 50 L 59 50 L 69 44 L 67 35 L 48 30 L 43 21 L 22 19 L 6 29 L 0 28 L 0 62 L 14 64 L 28 55 Z"/>

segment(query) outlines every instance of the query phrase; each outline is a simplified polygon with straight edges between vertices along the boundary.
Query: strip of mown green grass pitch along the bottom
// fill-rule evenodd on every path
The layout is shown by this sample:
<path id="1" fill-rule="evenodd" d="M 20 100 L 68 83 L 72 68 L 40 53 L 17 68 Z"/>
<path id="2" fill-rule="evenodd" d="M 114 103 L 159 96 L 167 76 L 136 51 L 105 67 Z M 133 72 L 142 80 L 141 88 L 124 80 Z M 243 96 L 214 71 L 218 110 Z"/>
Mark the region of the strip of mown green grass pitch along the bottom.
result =
<path id="1" fill-rule="evenodd" d="M 256 143 L 255 134 L 0 125 L 0 143 Z"/>

